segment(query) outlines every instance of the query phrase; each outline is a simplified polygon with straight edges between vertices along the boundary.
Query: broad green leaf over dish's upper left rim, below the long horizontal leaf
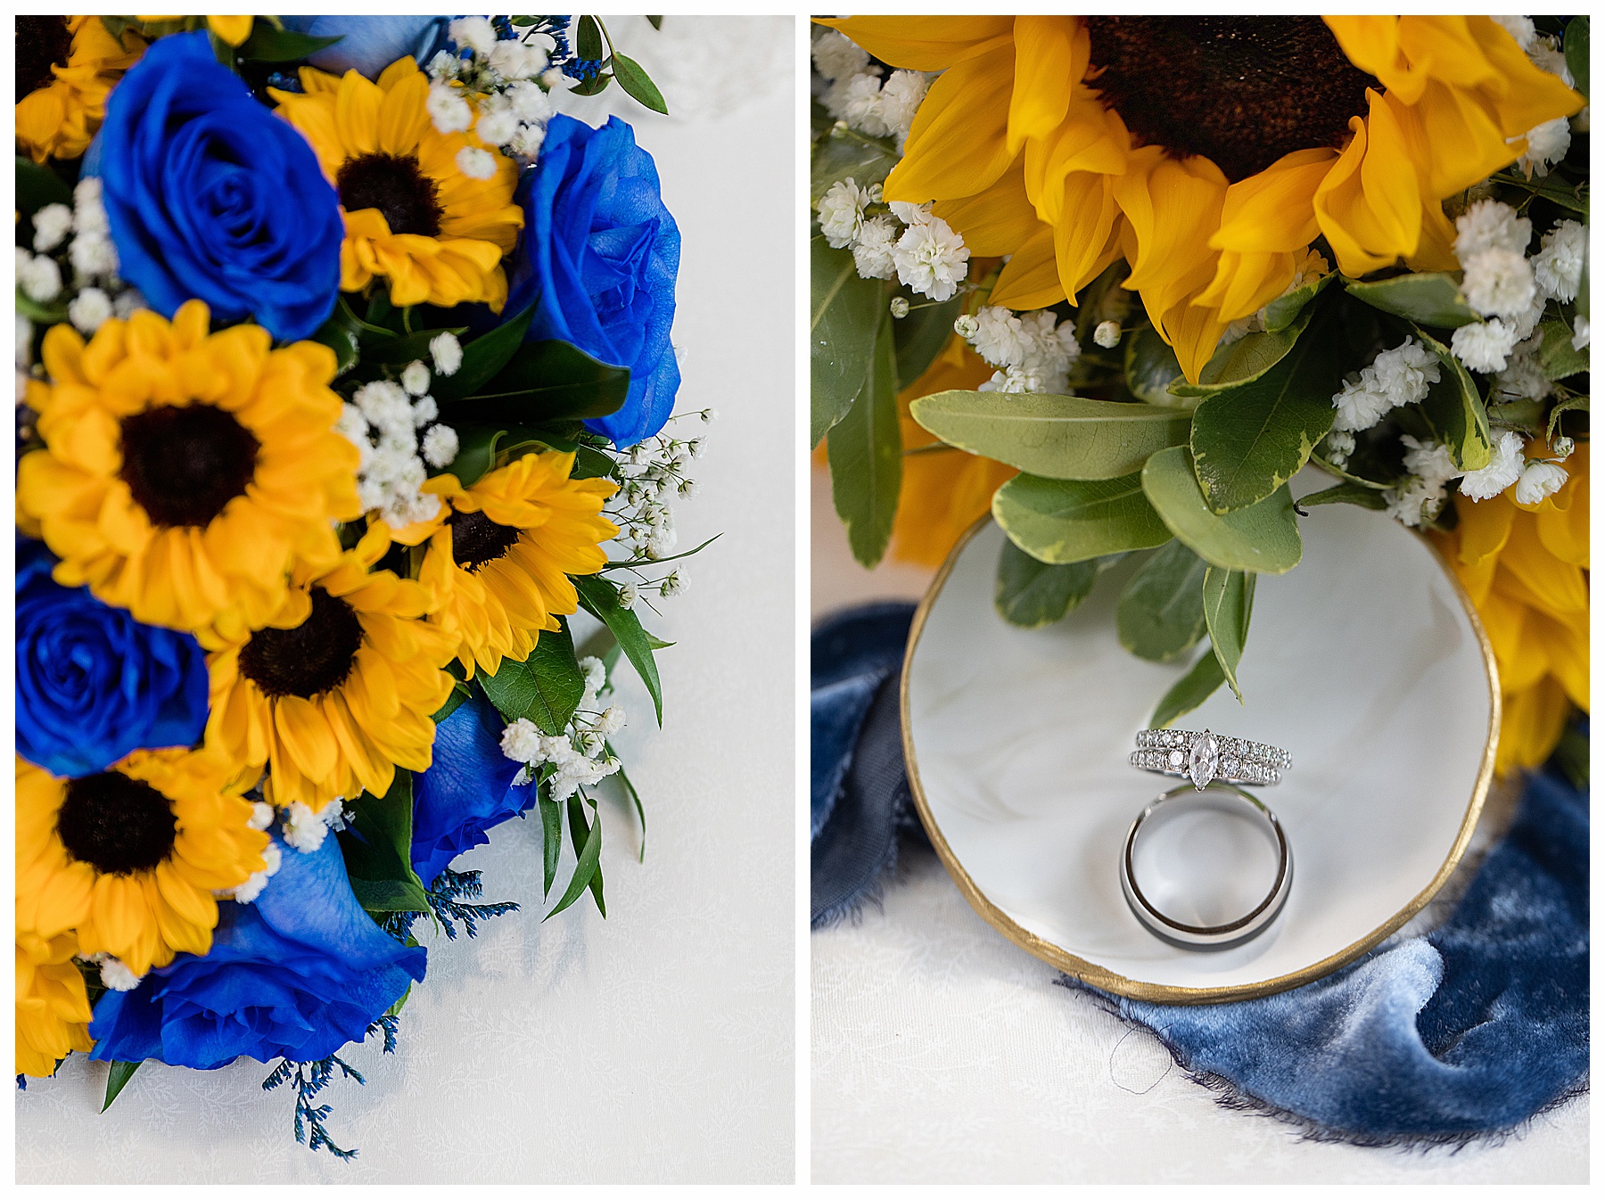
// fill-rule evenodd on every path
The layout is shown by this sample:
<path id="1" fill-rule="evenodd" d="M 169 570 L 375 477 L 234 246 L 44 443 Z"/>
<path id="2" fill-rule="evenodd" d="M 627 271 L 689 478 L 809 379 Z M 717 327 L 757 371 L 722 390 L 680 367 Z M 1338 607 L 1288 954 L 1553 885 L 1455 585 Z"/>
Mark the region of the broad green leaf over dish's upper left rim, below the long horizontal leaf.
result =
<path id="1" fill-rule="evenodd" d="M 1016 475 L 992 497 L 992 517 L 1014 545 L 1045 563 L 1079 563 L 1170 541 L 1136 473 L 1119 480 Z"/>

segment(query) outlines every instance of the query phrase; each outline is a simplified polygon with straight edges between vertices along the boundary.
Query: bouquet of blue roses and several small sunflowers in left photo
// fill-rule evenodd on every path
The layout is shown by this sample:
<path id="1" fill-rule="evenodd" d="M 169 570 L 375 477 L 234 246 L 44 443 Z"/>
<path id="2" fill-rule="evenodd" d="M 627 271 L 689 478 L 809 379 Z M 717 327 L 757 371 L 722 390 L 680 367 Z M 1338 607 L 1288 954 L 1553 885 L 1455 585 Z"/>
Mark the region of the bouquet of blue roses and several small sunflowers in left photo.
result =
<path id="1" fill-rule="evenodd" d="M 664 104 L 595 18 L 22 16 L 18 64 L 19 1083 L 278 1060 L 343 1157 L 419 922 L 517 906 L 457 857 L 534 815 L 546 916 L 605 916 L 597 789 L 640 813 L 681 244 L 557 106 Z"/>

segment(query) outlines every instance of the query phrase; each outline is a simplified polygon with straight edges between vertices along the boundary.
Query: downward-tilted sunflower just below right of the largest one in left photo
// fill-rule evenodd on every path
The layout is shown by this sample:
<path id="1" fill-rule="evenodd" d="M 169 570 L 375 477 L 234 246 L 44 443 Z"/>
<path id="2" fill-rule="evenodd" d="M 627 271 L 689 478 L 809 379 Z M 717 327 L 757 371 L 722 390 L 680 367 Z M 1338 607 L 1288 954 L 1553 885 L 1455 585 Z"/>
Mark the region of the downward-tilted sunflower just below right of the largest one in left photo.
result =
<path id="1" fill-rule="evenodd" d="M 318 810 L 363 789 L 384 796 L 396 767 L 429 770 L 430 716 L 453 687 L 440 667 L 456 643 L 422 619 L 429 589 L 372 570 L 388 549 L 376 523 L 332 568 L 297 566 L 268 627 L 201 635 L 212 651 L 205 741 L 236 780 L 262 778 L 271 804 Z"/>

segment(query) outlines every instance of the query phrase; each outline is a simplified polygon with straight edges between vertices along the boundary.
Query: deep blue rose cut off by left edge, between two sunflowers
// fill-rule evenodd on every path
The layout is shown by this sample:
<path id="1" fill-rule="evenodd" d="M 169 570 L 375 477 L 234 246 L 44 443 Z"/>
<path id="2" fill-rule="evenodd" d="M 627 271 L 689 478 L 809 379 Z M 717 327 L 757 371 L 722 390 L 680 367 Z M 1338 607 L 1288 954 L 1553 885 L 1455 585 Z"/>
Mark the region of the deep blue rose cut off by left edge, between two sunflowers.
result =
<path id="1" fill-rule="evenodd" d="M 130 751 L 205 730 L 205 653 L 50 578 L 43 542 L 16 545 L 16 749 L 51 775 L 96 775 Z"/>

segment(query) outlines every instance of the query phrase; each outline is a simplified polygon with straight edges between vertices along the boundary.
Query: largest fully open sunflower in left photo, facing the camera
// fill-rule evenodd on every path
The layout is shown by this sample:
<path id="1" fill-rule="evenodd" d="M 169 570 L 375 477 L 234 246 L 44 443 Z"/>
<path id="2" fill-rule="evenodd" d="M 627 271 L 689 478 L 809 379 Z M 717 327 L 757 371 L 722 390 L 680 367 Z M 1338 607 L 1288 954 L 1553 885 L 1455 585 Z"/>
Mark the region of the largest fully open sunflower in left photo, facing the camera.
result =
<path id="1" fill-rule="evenodd" d="M 61 558 L 56 582 L 146 624 L 244 632 L 279 610 L 292 560 L 339 555 L 358 452 L 334 432 L 332 350 L 270 350 L 258 326 L 209 335 L 207 319 L 199 300 L 172 324 L 138 311 L 87 347 L 53 326 L 53 382 L 27 390 L 45 448 L 18 464 L 16 502 Z"/>

